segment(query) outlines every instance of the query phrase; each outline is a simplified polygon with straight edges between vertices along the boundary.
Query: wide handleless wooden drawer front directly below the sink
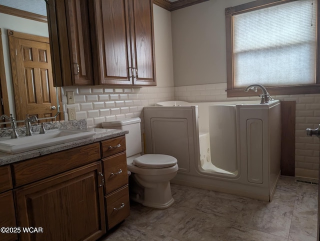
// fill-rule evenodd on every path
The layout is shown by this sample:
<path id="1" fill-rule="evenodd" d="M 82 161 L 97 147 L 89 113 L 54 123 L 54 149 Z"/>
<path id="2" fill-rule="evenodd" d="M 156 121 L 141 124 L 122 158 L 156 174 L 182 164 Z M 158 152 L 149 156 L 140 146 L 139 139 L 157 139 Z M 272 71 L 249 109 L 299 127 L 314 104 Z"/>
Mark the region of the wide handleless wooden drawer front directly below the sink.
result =
<path id="1" fill-rule="evenodd" d="M 12 165 L 13 185 L 24 185 L 98 159 L 100 145 L 95 142 L 17 162 Z"/>

